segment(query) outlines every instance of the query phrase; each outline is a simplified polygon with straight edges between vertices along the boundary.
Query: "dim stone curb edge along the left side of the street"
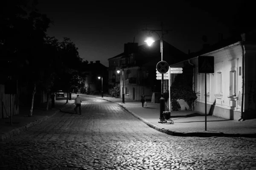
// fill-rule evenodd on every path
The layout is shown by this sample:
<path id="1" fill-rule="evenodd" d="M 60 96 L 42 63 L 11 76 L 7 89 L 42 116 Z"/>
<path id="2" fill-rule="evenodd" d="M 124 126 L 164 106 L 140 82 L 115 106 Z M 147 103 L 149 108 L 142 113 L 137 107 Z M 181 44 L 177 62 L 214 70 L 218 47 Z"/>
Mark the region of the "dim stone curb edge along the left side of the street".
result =
<path id="1" fill-rule="evenodd" d="M 35 120 L 35 121 L 33 121 L 33 122 L 30 122 L 30 123 L 28 123 L 28 124 L 26 124 L 26 125 L 24 125 L 24 126 L 22 126 L 22 127 L 18 127 L 18 128 L 16 128 L 16 129 L 13 129 L 13 130 L 7 132 L 7 133 L 3 133 L 3 134 L 1 134 L 1 136 L 0 136 L 0 141 L 9 139 L 9 138 L 11 138 L 12 136 L 15 136 L 15 135 L 17 135 L 17 134 L 19 134 L 19 133 L 21 133 L 21 132 L 23 132 L 23 131 L 28 130 L 30 127 L 33 127 L 33 126 L 35 126 L 35 125 L 38 125 L 38 124 L 40 124 L 40 123 L 46 121 L 47 119 L 51 118 L 52 116 L 54 116 L 54 115 L 57 114 L 58 112 L 60 112 L 60 110 L 55 111 L 55 113 L 53 113 L 51 116 L 44 116 L 43 118 L 37 119 L 37 120 Z"/>

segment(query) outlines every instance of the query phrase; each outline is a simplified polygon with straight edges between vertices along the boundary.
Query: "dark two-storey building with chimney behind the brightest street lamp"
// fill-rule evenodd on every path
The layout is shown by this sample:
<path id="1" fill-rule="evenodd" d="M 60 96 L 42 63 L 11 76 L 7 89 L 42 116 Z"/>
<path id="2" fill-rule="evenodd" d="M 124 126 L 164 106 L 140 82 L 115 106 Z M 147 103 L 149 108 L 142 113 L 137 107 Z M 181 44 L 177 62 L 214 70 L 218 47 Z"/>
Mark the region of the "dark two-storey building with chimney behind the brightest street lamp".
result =
<path id="1" fill-rule="evenodd" d="M 163 41 L 164 61 L 171 64 L 187 58 L 187 54 Z M 161 96 L 161 80 L 156 79 L 156 65 L 161 61 L 160 40 L 150 47 L 146 44 L 139 46 L 138 43 L 127 43 L 123 53 L 109 58 L 108 61 L 108 82 L 120 87 L 120 97 L 124 93 L 125 99 L 140 100 L 144 93 L 147 99 L 156 96 L 154 101 L 158 102 Z M 119 74 L 117 70 L 120 70 Z M 167 96 L 168 91 L 166 87 L 165 89 Z"/>

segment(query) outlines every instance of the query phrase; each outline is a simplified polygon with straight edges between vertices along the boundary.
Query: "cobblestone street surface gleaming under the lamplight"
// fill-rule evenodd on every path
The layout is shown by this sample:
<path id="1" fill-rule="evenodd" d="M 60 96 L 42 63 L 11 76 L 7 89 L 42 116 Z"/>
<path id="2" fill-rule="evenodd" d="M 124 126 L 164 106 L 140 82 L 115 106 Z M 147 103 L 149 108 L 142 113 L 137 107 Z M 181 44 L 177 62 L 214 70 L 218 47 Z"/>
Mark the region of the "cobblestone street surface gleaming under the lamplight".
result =
<path id="1" fill-rule="evenodd" d="M 116 103 L 83 101 L 82 115 L 70 106 L 0 142 L 0 170 L 256 170 L 256 139 L 171 136 Z"/>

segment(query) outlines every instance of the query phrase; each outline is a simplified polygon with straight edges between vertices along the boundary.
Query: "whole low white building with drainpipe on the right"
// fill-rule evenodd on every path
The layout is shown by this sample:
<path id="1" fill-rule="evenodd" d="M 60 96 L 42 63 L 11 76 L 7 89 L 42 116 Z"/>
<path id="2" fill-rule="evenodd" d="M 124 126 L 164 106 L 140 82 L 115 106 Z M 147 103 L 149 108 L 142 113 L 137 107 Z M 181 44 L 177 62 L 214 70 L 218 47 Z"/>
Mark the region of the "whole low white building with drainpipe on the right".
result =
<path id="1" fill-rule="evenodd" d="M 206 94 L 207 114 L 234 120 L 256 118 L 256 43 L 238 41 L 200 56 L 214 56 L 214 73 L 206 74 L 206 91 L 205 74 L 198 73 L 198 56 L 170 65 L 194 65 L 191 88 L 198 97 L 194 110 L 205 113 Z"/>

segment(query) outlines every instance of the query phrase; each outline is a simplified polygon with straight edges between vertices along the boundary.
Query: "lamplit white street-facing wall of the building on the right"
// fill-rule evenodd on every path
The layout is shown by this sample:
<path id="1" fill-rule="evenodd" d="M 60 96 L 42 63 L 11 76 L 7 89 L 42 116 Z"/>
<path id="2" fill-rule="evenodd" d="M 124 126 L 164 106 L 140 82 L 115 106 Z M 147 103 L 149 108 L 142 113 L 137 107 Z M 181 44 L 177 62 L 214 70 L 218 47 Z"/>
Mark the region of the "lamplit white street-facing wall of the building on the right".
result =
<path id="1" fill-rule="evenodd" d="M 210 114 L 226 119 L 239 118 L 241 114 L 242 79 L 241 74 L 239 74 L 239 67 L 242 66 L 242 50 L 240 43 L 237 42 L 201 56 L 214 56 L 215 72 L 213 74 L 207 74 L 206 93 L 205 74 L 198 74 L 198 59 L 195 57 L 190 60 L 190 62 L 195 65 L 195 92 L 198 96 L 195 111 L 205 112 L 205 94 L 207 94 L 207 113 L 211 111 Z M 170 67 L 182 67 L 182 62 Z M 219 76 L 220 74 L 221 76 Z M 231 78 L 233 75 L 235 75 L 235 81 Z M 232 95 L 230 91 L 233 89 L 233 84 L 231 82 L 234 82 L 233 84 L 235 84 L 235 93 Z"/>

